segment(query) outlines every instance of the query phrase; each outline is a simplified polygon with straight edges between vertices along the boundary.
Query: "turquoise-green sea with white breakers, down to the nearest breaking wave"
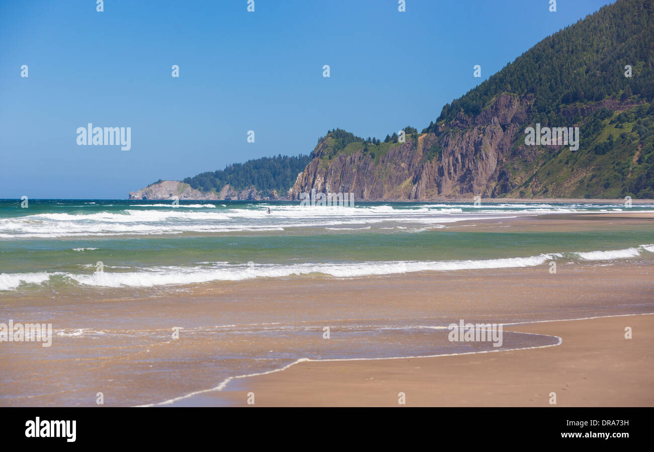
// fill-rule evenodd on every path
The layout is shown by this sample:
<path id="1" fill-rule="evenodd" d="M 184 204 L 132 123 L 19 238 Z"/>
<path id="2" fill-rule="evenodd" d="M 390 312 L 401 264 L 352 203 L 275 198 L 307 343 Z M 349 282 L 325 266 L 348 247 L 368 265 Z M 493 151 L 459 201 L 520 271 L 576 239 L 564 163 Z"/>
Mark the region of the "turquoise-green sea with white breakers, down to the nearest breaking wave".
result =
<path id="1" fill-rule="evenodd" d="M 616 211 L 654 205 L 29 200 L 22 208 L 2 200 L 0 294 L 654 258 L 651 228 L 524 232 L 508 224 Z M 506 232 L 472 226 L 488 219 Z"/>

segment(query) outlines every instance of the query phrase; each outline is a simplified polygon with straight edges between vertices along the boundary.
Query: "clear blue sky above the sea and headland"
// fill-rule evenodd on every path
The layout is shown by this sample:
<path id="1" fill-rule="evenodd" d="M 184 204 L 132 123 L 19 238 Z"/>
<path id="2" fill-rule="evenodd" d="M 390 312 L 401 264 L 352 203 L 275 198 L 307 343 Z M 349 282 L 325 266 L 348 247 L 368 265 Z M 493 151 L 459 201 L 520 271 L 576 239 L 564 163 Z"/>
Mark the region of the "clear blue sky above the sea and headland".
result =
<path id="1" fill-rule="evenodd" d="M 607 3 L 0 0 L 0 198 L 123 199 L 160 178 L 308 154 L 336 127 L 421 130 Z M 131 150 L 78 146 L 88 122 L 131 127 Z"/>

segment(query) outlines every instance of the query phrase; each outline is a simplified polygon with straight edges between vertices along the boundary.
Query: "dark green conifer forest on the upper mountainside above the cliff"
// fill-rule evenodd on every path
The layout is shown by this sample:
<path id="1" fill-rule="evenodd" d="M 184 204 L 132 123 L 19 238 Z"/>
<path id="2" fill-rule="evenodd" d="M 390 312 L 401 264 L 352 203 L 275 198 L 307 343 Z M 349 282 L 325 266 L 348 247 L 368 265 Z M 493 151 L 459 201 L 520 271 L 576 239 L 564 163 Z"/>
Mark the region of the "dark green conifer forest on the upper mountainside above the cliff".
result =
<path id="1" fill-rule="evenodd" d="M 437 124 L 458 113 L 479 114 L 504 92 L 533 94 L 534 122 L 560 122 L 562 105 L 621 97 L 654 99 L 654 11 L 652 0 L 618 0 L 551 35 L 445 105 Z M 632 77 L 625 77 L 625 66 Z M 434 126 L 432 126 L 433 131 Z"/>

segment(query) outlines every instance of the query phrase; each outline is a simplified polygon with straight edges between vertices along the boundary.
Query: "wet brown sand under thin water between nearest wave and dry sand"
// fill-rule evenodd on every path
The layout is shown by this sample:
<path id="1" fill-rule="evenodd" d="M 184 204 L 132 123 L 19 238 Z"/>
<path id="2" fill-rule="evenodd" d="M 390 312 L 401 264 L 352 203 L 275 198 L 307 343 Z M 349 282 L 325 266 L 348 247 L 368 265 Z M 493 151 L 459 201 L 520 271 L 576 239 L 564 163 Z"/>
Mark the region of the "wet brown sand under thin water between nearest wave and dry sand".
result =
<path id="1" fill-rule="evenodd" d="M 366 363 L 402 363 L 390 369 L 390 374 L 384 372 L 398 375 L 405 372 L 402 356 L 460 352 L 458 346 L 448 345 L 447 332 L 434 330 L 459 319 L 519 324 L 515 328 L 507 326 L 506 330 L 559 336 L 565 344 L 564 334 L 549 332 L 543 326 L 553 324 L 555 319 L 558 322 L 554 324 L 566 325 L 574 321 L 562 320 L 605 316 L 619 319 L 628 317 L 614 316 L 654 312 L 654 264 L 650 262 L 563 265 L 555 274 L 548 269 L 539 266 L 419 272 L 333 280 L 255 279 L 154 296 L 141 296 L 131 290 L 116 298 L 114 292 L 96 299 L 71 294 L 58 296 L 55 305 L 40 296 L 16 299 L 3 306 L 5 317 L 14 322 L 50 322 L 56 336 L 48 348 L 28 344 L 0 347 L 0 359 L 14 364 L 5 369 L 0 382 L 0 393 L 5 394 L 0 405 L 93 406 L 95 393 L 102 391 L 110 406 L 139 406 L 213 389 L 230 376 L 276 370 L 302 357 L 318 360 L 381 356 L 375 360 L 331 362 L 336 372 L 329 371 L 328 381 L 340 381 L 348 387 L 360 383 L 356 375 L 363 371 L 357 366 L 368 366 Z M 71 317 L 71 313 L 75 315 Z M 115 319 L 121 320 L 116 323 Z M 325 325 L 333 330 L 330 341 L 322 338 Z M 182 328 L 179 340 L 171 340 L 171 328 L 175 326 Z M 654 332 L 651 326 L 647 328 Z M 516 338 L 519 340 L 512 343 L 507 334 L 504 347 L 547 343 L 526 336 Z M 652 343 L 654 340 L 648 343 L 650 349 Z M 559 347 L 540 350 L 550 349 Z M 468 356 L 477 359 L 540 353 L 504 351 Z M 388 360 L 387 356 L 400 358 Z M 439 359 L 450 358 L 456 356 Z M 311 361 L 286 371 L 294 374 L 296 368 L 317 364 L 330 362 Z M 355 366 L 352 372 L 342 372 L 343 366 L 351 365 Z M 594 369 L 603 366 L 596 363 Z M 31 377 L 18 379 L 19 368 Z M 470 372 L 477 371 L 472 368 Z M 654 370 L 639 372 L 635 368 L 630 372 L 651 375 Z M 280 384 L 284 385 L 286 373 L 275 372 L 268 377 L 281 374 L 284 381 Z M 368 377 L 380 378 L 378 374 Z M 296 383 L 307 385 L 314 379 L 314 375 L 303 374 Z M 243 392 L 238 391 L 244 387 L 241 383 L 250 379 L 237 381 L 230 380 L 226 391 L 199 394 L 198 400 L 186 398 L 173 405 L 239 404 Z M 504 387 L 510 381 L 510 376 L 503 375 L 495 384 Z M 332 387 L 326 385 L 321 391 L 330 394 Z M 351 397 L 360 404 L 367 403 L 356 395 Z M 330 400 L 305 402 L 320 405 Z M 432 403 L 439 402 L 432 399 Z"/>

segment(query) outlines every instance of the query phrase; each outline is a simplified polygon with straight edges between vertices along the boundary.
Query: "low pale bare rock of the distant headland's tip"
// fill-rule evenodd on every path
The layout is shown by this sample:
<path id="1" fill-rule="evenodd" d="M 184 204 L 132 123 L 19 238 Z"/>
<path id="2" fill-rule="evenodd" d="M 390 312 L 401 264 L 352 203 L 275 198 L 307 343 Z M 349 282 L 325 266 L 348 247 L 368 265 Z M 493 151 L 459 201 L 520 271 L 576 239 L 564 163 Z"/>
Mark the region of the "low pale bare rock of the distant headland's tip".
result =
<path id="1" fill-rule="evenodd" d="M 129 192 L 130 200 L 173 200 L 174 197 L 179 197 L 180 200 L 234 200 L 234 201 L 267 201 L 267 200 L 283 200 L 286 198 L 279 198 L 277 192 L 273 190 L 272 196 L 262 196 L 254 188 L 236 191 L 229 185 L 226 185 L 216 192 L 202 192 L 191 188 L 189 184 L 180 181 L 161 181 L 158 183 L 150 184 L 141 190 Z"/>

